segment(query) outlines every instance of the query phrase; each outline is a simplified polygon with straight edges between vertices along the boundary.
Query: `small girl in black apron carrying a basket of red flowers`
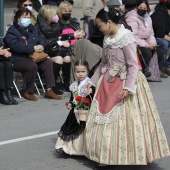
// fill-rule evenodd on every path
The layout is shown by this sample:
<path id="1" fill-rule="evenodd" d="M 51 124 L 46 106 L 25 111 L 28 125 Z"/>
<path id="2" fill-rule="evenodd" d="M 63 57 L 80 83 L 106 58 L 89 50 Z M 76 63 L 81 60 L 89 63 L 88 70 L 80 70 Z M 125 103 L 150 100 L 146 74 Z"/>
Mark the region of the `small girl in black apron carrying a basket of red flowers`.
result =
<path id="1" fill-rule="evenodd" d="M 65 123 L 58 133 L 56 151 L 58 154 L 84 155 L 84 135 L 88 110 L 91 104 L 92 89 L 87 95 L 90 78 L 89 65 L 85 60 L 77 60 L 74 65 L 77 81 L 70 85 L 71 98 L 66 107 L 70 110 Z"/>

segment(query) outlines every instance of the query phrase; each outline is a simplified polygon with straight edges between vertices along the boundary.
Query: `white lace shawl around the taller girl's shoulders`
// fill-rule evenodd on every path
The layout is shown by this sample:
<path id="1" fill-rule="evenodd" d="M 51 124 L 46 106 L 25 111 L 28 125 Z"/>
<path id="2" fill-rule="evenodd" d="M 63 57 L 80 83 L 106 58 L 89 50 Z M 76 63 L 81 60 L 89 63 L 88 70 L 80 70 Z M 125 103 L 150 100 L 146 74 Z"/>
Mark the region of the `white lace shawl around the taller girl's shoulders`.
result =
<path id="1" fill-rule="evenodd" d="M 125 27 L 121 24 L 120 28 L 114 36 L 105 36 L 103 41 L 104 48 L 122 48 L 123 46 L 127 46 L 129 43 L 134 43 L 135 38 L 133 33 L 125 29 Z"/>

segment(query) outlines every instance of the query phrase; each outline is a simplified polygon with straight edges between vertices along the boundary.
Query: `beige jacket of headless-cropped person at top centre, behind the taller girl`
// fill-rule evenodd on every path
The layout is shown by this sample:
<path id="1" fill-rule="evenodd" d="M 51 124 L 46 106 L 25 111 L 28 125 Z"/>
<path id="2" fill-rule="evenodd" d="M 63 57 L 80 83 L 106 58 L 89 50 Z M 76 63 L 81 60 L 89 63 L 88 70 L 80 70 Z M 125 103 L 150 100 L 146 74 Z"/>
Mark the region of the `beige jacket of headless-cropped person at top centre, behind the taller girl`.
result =
<path id="1" fill-rule="evenodd" d="M 83 15 L 84 19 L 83 21 L 83 30 L 85 30 L 86 33 L 88 33 L 88 20 L 94 19 L 96 17 L 96 14 L 100 9 L 102 9 L 103 3 L 99 0 L 83 0 Z"/>

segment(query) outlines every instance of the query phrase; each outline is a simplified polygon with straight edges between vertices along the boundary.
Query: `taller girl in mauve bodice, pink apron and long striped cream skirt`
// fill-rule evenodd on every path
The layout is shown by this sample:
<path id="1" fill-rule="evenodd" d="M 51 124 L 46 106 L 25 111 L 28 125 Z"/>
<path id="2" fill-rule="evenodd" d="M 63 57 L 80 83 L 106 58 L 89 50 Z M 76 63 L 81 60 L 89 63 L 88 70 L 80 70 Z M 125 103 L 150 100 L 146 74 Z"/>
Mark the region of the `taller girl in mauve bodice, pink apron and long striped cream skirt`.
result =
<path id="1" fill-rule="evenodd" d="M 100 10 L 102 61 L 87 91 L 96 86 L 85 129 L 85 155 L 105 165 L 146 165 L 169 156 L 164 129 L 145 76 L 139 70 L 133 33 L 119 25 L 117 10 Z"/>

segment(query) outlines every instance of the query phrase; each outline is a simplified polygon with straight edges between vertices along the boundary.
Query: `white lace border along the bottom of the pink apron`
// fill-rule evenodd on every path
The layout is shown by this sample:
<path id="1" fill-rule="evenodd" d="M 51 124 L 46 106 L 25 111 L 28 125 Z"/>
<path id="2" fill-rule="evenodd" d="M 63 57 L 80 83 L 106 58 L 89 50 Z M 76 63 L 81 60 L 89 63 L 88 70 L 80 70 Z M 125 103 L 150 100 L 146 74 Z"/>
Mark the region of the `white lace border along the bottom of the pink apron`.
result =
<path id="1" fill-rule="evenodd" d="M 107 123 L 111 123 L 113 121 L 113 119 L 115 117 L 118 116 L 119 113 L 122 113 L 123 112 L 123 107 L 124 107 L 124 104 L 123 104 L 123 100 L 118 103 L 117 105 L 115 105 L 113 107 L 113 109 L 107 113 L 107 114 L 101 114 L 99 112 L 99 109 L 98 109 L 98 102 L 96 99 L 93 100 L 93 104 L 92 104 L 92 107 L 90 109 L 90 112 L 91 114 L 94 114 L 95 117 L 94 117 L 94 122 L 96 122 L 97 124 L 107 124 Z"/>

